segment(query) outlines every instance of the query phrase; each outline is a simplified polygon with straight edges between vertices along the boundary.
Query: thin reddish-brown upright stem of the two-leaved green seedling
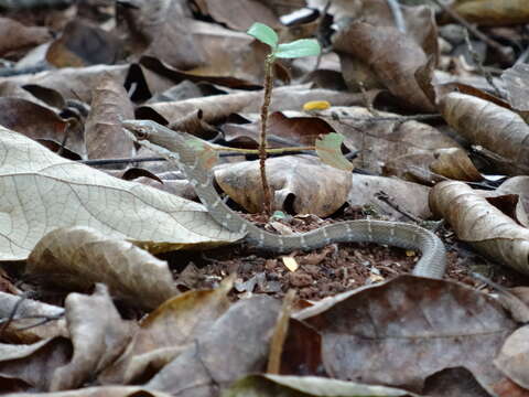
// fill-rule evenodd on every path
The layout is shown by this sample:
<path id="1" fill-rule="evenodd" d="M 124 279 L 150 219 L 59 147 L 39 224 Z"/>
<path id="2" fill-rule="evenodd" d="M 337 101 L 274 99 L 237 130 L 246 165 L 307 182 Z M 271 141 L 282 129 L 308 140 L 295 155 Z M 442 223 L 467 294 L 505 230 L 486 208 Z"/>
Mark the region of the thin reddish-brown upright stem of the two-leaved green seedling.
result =
<path id="1" fill-rule="evenodd" d="M 264 94 L 261 105 L 261 135 L 259 142 L 259 170 L 261 172 L 262 192 L 264 194 L 264 213 L 267 215 L 272 214 L 272 194 L 270 185 L 267 180 L 267 124 L 268 124 L 268 108 L 270 107 L 270 100 L 272 98 L 273 87 L 273 54 L 267 55 L 264 61 Z"/>

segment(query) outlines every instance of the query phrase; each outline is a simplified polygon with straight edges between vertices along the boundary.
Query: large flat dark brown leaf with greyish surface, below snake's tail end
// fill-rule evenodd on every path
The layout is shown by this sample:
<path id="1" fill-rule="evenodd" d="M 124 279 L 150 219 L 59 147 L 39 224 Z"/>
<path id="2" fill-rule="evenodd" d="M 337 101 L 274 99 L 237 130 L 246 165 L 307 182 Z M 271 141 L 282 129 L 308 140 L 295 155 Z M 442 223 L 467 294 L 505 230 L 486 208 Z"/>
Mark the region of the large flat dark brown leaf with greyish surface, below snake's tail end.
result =
<path id="1" fill-rule="evenodd" d="M 328 376 L 417 393 L 428 376 L 454 366 L 490 390 L 501 378 L 492 361 L 516 326 L 485 293 L 412 276 L 338 294 L 294 318 L 322 334 Z"/>

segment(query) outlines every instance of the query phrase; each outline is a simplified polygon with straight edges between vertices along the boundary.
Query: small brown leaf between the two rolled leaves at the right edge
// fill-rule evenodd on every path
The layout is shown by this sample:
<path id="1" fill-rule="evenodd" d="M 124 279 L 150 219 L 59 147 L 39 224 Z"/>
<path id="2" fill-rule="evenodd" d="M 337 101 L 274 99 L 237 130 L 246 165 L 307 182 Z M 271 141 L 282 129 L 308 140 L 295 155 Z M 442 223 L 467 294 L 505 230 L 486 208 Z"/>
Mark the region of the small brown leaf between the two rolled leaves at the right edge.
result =
<path id="1" fill-rule="evenodd" d="M 457 181 L 479 182 L 484 180 L 463 149 L 438 149 L 434 154 L 435 161 L 430 164 L 430 170 L 433 172 Z"/>

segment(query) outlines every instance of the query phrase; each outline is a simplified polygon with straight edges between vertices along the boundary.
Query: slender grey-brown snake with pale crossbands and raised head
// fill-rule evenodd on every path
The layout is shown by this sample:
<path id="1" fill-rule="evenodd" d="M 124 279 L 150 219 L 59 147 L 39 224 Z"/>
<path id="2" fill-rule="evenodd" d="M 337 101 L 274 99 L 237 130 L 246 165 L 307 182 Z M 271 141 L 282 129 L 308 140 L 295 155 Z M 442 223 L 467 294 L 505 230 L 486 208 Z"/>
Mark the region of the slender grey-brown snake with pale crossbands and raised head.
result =
<path id="1" fill-rule="evenodd" d="M 283 254 L 312 250 L 335 243 L 376 243 L 421 251 L 421 258 L 412 270 L 414 276 L 439 279 L 445 272 L 444 244 L 433 232 L 415 224 L 355 219 L 291 235 L 259 228 L 234 212 L 218 195 L 210 171 L 212 158 L 205 155 L 206 149 L 212 148 L 210 143 L 152 120 L 123 120 L 121 125 L 138 143 L 174 163 L 190 181 L 209 215 L 228 230 L 245 235 L 244 240 L 250 246 Z"/>

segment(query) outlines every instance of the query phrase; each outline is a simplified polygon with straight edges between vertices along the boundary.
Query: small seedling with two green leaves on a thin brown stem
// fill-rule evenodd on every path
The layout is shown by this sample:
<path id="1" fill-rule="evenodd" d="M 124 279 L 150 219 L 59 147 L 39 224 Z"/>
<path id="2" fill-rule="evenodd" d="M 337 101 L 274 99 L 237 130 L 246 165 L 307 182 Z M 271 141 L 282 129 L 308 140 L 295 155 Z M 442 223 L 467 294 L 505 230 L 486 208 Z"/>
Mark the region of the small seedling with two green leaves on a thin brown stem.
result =
<path id="1" fill-rule="evenodd" d="M 267 120 L 268 108 L 272 96 L 273 63 L 277 58 L 296 58 L 320 55 L 322 49 L 315 39 L 301 39 L 290 43 L 279 44 L 278 34 L 273 29 L 259 22 L 253 23 L 250 29 L 248 29 L 247 33 L 271 49 L 264 60 L 264 94 L 261 106 L 261 133 L 259 142 L 259 168 L 261 172 L 262 190 L 264 193 L 264 212 L 270 215 L 272 212 L 272 202 L 270 186 L 267 182 L 264 161 L 267 160 Z"/>

